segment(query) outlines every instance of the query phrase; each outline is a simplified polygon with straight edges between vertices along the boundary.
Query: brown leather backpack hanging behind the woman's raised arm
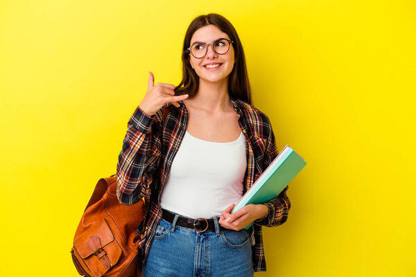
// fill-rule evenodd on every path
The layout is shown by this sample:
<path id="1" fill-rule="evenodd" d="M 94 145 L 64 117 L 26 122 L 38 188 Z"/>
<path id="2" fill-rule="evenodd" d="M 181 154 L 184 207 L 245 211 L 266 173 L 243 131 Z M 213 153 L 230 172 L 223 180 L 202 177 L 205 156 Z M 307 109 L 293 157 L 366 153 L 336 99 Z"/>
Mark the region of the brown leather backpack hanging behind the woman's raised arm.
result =
<path id="1" fill-rule="evenodd" d="M 167 114 L 168 107 L 162 125 Z M 141 276 L 137 249 L 141 236 L 136 230 L 143 225 L 148 201 L 121 204 L 116 189 L 115 175 L 99 179 L 76 229 L 71 255 L 82 276 Z"/>

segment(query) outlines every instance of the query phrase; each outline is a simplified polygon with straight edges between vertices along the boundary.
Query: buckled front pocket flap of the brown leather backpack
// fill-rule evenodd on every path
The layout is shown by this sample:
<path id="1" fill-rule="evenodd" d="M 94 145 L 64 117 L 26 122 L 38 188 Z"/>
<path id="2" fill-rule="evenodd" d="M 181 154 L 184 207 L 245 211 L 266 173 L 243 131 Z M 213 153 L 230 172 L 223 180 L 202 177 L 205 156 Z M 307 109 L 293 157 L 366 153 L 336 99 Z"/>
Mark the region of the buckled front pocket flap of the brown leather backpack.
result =
<path id="1" fill-rule="evenodd" d="M 121 248 L 104 219 L 92 224 L 73 242 L 78 255 L 96 277 L 105 274 L 121 256 Z"/>

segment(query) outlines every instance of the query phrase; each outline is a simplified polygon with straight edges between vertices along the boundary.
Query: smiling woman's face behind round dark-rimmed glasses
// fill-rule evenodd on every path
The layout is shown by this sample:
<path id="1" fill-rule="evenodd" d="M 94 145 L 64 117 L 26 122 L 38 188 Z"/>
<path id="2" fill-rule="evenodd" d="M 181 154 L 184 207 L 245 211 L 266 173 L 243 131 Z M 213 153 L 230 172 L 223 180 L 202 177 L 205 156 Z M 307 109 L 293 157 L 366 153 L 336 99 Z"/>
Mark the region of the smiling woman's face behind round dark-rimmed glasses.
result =
<path id="1" fill-rule="evenodd" d="M 191 44 L 189 46 L 194 42 L 205 42 L 206 44 L 209 44 L 220 38 L 229 39 L 229 36 L 226 33 L 223 33 L 217 26 L 207 25 L 199 28 L 193 33 Z M 207 55 L 200 59 L 193 57 L 193 55 L 189 53 L 189 62 L 200 79 L 207 82 L 219 82 L 228 78 L 229 73 L 231 73 L 234 67 L 234 48 L 232 44 L 230 44 L 227 53 L 218 55 L 211 46 L 208 46 Z M 213 63 L 220 64 L 220 66 L 211 69 L 206 67 L 207 64 Z"/>

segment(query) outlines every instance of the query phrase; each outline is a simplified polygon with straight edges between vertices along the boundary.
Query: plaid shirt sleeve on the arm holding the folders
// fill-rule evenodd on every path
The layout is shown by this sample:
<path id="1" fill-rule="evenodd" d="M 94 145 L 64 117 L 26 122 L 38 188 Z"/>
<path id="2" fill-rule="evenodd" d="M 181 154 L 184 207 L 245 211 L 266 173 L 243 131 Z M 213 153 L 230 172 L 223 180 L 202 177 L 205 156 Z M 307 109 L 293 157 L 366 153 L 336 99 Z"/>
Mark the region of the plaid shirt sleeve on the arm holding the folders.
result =
<path id="1" fill-rule="evenodd" d="M 267 118 L 268 119 L 268 118 Z M 270 124 L 270 120 L 269 124 Z M 277 151 L 275 134 L 273 133 L 270 124 L 270 135 L 266 143 L 266 154 L 264 156 L 263 170 L 277 157 L 279 152 Z M 274 227 L 284 224 L 288 218 L 288 212 L 291 208 L 291 200 L 286 195 L 288 186 L 281 191 L 279 196 L 264 203 L 268 207 L 268 213 L 261 219 L 255 220 L 254 224 L 260 226 Z"/>

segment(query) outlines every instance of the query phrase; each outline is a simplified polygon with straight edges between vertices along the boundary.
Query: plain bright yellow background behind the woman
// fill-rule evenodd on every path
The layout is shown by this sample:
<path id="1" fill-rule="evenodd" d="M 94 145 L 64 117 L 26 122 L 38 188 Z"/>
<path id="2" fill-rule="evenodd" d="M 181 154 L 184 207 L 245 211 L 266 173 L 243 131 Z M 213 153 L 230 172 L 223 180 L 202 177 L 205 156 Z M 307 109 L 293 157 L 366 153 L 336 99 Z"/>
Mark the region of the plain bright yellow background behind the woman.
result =
<path id="1" fill-rule="evenodd" d="M 148 71 L 178 84 L 209 12 L 239 33 L 279 150 L 308 162 L 255 275 L 416 276 L 416 4 L 397 0 L 1 1 L 0 276 L 78 276 L 73 234 Z"/>

